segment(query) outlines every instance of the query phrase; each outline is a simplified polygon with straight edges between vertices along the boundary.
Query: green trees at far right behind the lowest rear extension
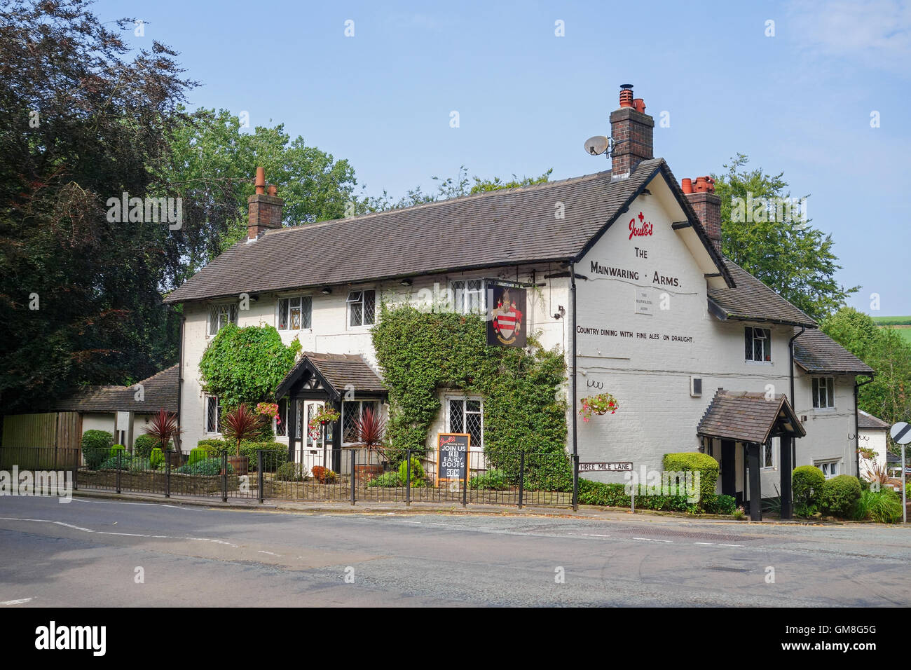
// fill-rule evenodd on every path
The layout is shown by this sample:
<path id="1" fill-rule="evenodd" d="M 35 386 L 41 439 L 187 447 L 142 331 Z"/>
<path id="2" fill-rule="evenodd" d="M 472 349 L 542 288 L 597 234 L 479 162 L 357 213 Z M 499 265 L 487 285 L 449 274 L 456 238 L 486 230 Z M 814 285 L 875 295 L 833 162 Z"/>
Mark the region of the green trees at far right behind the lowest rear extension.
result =
<path id="1" fill-rule="evenodd" d="M 858 407 L 888 423 L 911 419 L 911 345 L 893 328 L 852 307 L 844 307 L 821 322 L 826 335 L 873 368 L 870 384 L 860 387 Z"/>

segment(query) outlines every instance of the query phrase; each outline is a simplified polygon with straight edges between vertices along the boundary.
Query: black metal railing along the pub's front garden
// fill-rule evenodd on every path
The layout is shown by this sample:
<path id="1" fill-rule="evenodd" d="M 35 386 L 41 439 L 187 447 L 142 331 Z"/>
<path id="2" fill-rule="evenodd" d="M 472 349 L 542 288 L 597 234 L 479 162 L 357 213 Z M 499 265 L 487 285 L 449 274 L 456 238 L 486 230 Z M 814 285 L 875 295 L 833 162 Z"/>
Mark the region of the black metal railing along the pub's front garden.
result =
<path id="1" fill-rule="evenodd" d="M 441 456 L 407 450 L 397 456 L 344 448 L 298 449 L 290 458 L 283 446 L 241 453 L 156 449 L 148 455 L 122 448 L 0 448 L 0 469 L 67 470 L 79 489 L 166 498 L 577 506 L 578 465 L 562 452 L 472 450 Z"/>

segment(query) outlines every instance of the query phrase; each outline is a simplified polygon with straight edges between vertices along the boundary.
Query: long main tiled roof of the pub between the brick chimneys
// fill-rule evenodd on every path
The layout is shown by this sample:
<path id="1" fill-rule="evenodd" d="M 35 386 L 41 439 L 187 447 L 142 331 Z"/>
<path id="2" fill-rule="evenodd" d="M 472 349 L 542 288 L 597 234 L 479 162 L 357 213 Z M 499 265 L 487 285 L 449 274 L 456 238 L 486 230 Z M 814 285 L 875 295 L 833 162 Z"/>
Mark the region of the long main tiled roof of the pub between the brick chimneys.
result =
<path id="1" fill-rule="evenodd" d="M 643 160 L 625 180 L 611 180 L 607 170 L 267 231 L 255 242 L 230 247 L 165 302 L 568 261 L 578 257 L 659 172 L 679 190 L 667 163 L 652 159 Z M 685 198 L 681 201 L 698 221 Z M 554 216 L 558 202 L 564 206 L 563 219 Z M 701 226 L 697 232 L 711 248 Z"/>

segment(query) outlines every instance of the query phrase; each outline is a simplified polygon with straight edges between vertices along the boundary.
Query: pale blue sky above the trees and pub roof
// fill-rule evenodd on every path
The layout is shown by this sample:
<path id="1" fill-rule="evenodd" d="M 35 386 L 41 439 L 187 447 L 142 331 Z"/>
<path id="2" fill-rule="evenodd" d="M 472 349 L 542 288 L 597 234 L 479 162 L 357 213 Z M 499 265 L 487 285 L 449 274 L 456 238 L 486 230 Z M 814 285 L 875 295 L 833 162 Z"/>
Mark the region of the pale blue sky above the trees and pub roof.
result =
<path id="1" fill-rule="evenodd" d="M 911 314 L 911 5 L 870 2 L 384 3 L 100 0 L 147 22 L 202 86 L 193 107 L 284 123 L 394 197 L 460 165 L 552 179 L 609 167 L 582 149 L 609 134 L 632 83 L 655 154 L 678 177 L 735 153 L 810 194 L 870 314 Z M 352 20 L 354 36 L 346 37 Z M 565 36 L 555 35 L 562 21 Z M 767 21 L 774 22 L 774 36 Z M 451 111 L 459 128 L 450 128 Z M 871 128 L 871 113 L 880 125 Z M 879 294 L 880 310 L 871 310 Z"/>

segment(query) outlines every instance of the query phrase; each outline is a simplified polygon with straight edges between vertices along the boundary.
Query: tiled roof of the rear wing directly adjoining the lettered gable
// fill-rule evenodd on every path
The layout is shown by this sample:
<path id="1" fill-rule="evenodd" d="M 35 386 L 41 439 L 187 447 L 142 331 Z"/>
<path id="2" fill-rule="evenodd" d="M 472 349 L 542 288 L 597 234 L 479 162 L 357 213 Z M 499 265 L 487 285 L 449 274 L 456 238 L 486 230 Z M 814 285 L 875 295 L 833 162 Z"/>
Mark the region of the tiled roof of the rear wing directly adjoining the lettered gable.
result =
<path id="1" fill-rule="evenodd" d="M 724 263 L 736 286 L 710 288 L 708 295 L 709 302 L 714 304 L 725 318 L 816 327 L 813 319 L 746 272 L 740 265 L 728 259 L 724 259 Z"/>

